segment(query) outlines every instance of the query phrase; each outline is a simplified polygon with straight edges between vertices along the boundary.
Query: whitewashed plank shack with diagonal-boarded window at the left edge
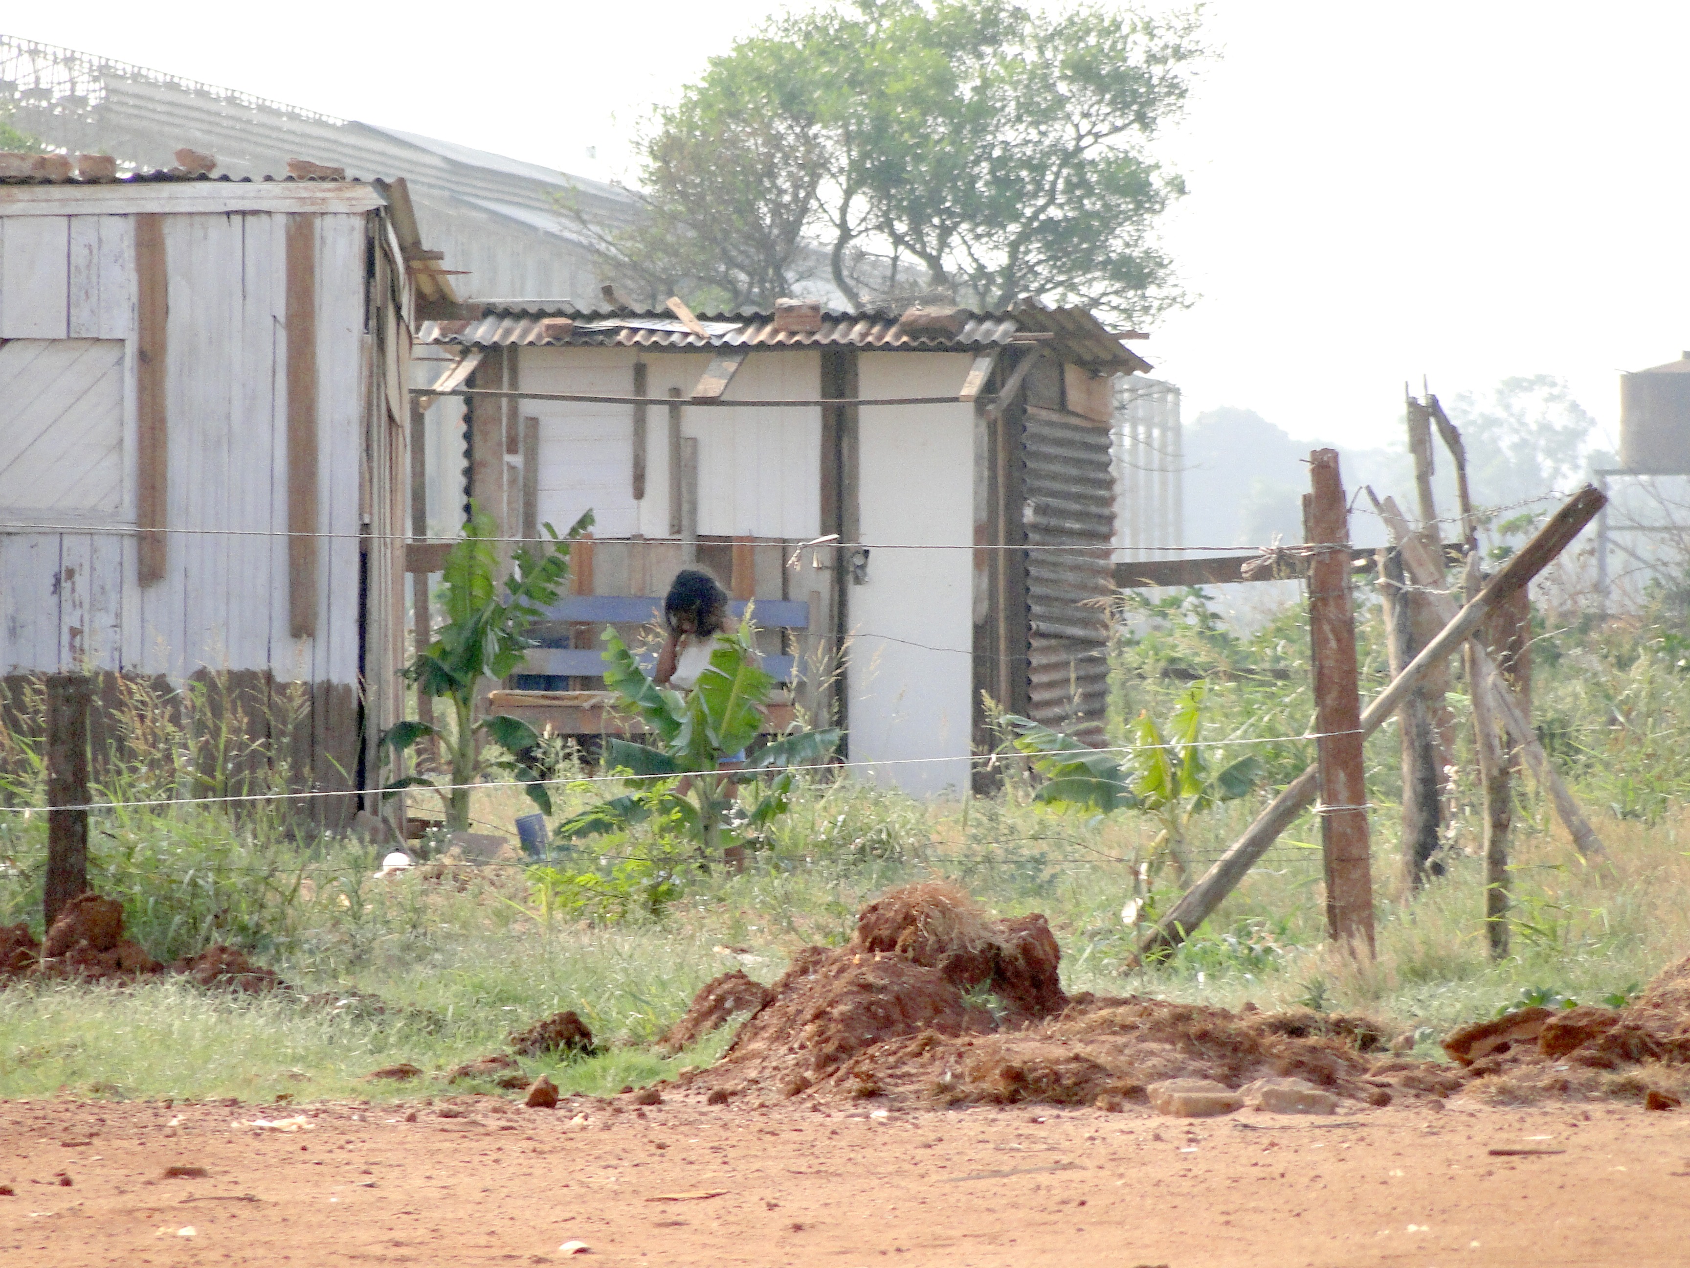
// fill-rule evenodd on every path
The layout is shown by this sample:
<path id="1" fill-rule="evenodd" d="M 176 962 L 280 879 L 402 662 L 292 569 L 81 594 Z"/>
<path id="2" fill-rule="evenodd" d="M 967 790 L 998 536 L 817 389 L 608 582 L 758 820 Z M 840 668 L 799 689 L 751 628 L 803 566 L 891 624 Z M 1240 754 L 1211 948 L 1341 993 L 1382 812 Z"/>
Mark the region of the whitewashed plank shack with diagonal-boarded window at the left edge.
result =
<path id="1" fill-rule="evenodd" d="M 292 786 L 373 783 L 404 700 L 412 303 L 451 298 L 404 184 L 59 162 L 0 181 L 8 697 L 199 680 Z"/>

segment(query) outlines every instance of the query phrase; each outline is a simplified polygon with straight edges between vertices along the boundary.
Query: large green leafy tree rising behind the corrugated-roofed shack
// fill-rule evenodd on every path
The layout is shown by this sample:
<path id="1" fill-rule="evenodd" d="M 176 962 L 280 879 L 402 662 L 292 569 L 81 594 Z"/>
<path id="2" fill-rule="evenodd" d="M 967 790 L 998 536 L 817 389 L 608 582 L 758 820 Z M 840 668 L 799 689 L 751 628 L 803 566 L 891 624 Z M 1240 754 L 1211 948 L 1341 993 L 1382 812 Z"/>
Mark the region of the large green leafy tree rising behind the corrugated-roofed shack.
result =
<path id="1" fill-rule="evenodd" d="M 644 140 L 646 215 L 595 230 L 652 291 L 769 304 L 823 272 L 855 304 L 1178 303 L 1153 230 L 1185 193 L 1149 154 L 1202 54 L 1195 15 L 855 0 L 711 59 Z M 816 245 L 811 245 L 816 243 Z"/>

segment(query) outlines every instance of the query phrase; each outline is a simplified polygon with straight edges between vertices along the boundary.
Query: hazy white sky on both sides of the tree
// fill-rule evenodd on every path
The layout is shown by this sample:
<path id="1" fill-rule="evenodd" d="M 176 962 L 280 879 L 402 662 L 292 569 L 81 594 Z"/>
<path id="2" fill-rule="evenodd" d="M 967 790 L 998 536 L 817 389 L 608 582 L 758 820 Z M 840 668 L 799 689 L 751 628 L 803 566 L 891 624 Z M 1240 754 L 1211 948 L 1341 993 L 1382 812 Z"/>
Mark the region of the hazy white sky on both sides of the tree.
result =
<path id="1" fill-rule="evenodd" d="M 781 7 L 83 0 L 5 27 L 608 176 L 651 103 Z M 1215 0 L 1207 22 L 1222 56 L 1163 145 L 1197 303 L 1137 345 L 1188 419 L 1367 446 L 1401 435 L 1404 379 L 1448 399 L 1558 374 L 1612 429 L 1619 370 L 1690 347 L 1690 7 Z"/>

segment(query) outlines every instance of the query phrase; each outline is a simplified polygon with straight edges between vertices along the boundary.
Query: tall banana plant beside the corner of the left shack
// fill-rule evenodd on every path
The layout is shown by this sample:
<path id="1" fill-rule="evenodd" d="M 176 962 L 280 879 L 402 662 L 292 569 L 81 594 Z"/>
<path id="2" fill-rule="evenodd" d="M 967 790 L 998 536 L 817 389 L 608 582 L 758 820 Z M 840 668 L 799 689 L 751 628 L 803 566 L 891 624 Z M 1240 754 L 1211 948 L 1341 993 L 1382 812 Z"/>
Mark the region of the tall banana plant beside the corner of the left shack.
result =
<path id="1" fill-rule="evenodd" d="M 534 641 L 529 627 L 558 602 L 570 578 L 570 543 L 593 526 L 593 512 L 581 516 L 564 538 L 551 524 L 542 524 L 546 539 L 519 546 L 510 556 L 510 573 L 499 582 L 499 524 L 473 504 L 463 536 L 446 553 L 441 607 L 446 622 L 434 631 L 434 641 L 404 668 L 407 681 L 421 695 L 446 700 L 453 727 L 441 730 L 426 722 L 407 720 L 382 735 L 384 752 L 397 762 L 401 754 L 426 737 L 439 741 L 450 756 L 446 783 L 426 774 L 394 779 L 382 791 L 433 788 L 446 808 L 446 827 L 463 832 L 470 827 L 470 793 L 485 774 L 505 774 L 524 783 L 524 791 L 542 813 L 551 813 L 546 774 L 539 761 L 539 734 L 522 719 L 475 717 L 475 702 L 488 680 L 500 680 L 522 664 Z M 483 741 L 495 749 L 487 751 Z"/>

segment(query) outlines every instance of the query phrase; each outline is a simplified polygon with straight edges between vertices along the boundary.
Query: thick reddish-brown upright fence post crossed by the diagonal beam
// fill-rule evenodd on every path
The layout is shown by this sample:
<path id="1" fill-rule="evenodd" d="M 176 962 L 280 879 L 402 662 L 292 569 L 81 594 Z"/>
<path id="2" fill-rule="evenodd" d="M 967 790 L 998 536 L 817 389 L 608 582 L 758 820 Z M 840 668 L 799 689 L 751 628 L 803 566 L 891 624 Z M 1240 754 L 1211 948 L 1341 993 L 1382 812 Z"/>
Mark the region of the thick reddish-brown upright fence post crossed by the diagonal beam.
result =
<path id="1" fill-rule="evenodd" d="M 1374 950 L 1372 857 L 1362 764 L 1355 617 L 1350 610 L 1350 516 L 1337 450 L 1310 458 L 1308 539 L 1325 546 L 1308 571 L 1315 717 L 1322 739 L 1320 839 L 1327 862 L 1327 928 L 1333 942 Z"/>

